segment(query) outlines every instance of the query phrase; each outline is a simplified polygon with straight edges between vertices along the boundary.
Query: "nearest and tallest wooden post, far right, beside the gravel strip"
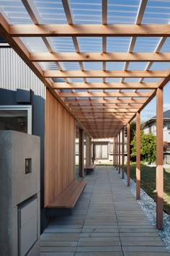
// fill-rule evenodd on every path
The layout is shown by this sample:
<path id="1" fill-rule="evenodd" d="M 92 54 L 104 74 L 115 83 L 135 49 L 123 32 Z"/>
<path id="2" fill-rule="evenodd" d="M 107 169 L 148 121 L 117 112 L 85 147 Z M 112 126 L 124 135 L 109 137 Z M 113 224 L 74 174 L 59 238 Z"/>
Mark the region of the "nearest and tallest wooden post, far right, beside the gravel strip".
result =
<path id="1" fill-rule="evenodd" d="M 163 89 L 156 90 L 156 227 L 163 229 L 164 168 L 163 168 Z"/>

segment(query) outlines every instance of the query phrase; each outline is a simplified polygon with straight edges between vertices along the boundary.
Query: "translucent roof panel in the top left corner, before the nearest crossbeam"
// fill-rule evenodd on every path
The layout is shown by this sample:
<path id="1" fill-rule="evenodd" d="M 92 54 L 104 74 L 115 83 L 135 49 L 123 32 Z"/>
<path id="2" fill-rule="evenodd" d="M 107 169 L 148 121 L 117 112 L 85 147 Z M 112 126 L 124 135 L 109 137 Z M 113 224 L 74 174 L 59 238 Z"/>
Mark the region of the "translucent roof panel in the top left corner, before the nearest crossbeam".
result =
<path id="1" fill-rule="evenodd" d="M 21 0 L 0 0 L 1 9 L 12 24 L 32 24 Z"/>

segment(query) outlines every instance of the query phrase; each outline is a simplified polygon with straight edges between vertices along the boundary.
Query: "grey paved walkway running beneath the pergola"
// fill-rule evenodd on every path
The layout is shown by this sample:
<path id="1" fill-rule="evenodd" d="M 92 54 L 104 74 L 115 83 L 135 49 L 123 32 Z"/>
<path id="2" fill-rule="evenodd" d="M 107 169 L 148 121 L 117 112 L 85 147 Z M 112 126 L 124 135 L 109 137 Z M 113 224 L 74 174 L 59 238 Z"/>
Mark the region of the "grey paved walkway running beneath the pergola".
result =
<path id="1" fill-rule="evenodd" d="M 130 189 L 113 167 L 97 166 L 72 216 L 41 236 L 46 256 L 169 256 Z"/>

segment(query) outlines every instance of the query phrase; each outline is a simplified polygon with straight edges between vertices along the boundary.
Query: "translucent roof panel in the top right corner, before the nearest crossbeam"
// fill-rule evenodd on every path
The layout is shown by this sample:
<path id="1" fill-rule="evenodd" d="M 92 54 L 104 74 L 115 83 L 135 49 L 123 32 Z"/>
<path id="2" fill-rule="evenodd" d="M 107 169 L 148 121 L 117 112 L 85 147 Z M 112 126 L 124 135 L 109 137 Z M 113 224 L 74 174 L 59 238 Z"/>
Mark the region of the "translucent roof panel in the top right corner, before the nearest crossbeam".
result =
<path id="1" fill-rule="evenodd" d="M 148 0 L 146 6 L 146 12 L 143 15 L 142 23 L 168 23 L 169 22 L 169 10 L 170 2 L 169 0 Z"/>

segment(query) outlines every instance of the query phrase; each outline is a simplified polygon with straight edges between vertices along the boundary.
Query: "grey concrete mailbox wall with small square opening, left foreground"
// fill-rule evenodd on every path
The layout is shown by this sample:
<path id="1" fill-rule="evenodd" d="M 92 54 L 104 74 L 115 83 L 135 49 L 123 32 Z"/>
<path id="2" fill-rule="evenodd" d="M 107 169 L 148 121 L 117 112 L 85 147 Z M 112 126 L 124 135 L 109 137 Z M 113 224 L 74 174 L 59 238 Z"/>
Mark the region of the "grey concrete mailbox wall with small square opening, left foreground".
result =
<path id="1" fill-rule="evenodd" d="M 25 174 L 26 158 L 32 159 L 28 174 Z M 0 170 L 0 255 L 22 256 L 19 250 L 24 254 L 29 244 L 28 255 L 40 255 L 40 137 L 0 131 Z M 34 208 L 29 208 L 30 202 Z M 28 210 L 24 212 L 25 209 Z M 19 230 L 20 239 L 26 240 L 22 244 Z"/>

